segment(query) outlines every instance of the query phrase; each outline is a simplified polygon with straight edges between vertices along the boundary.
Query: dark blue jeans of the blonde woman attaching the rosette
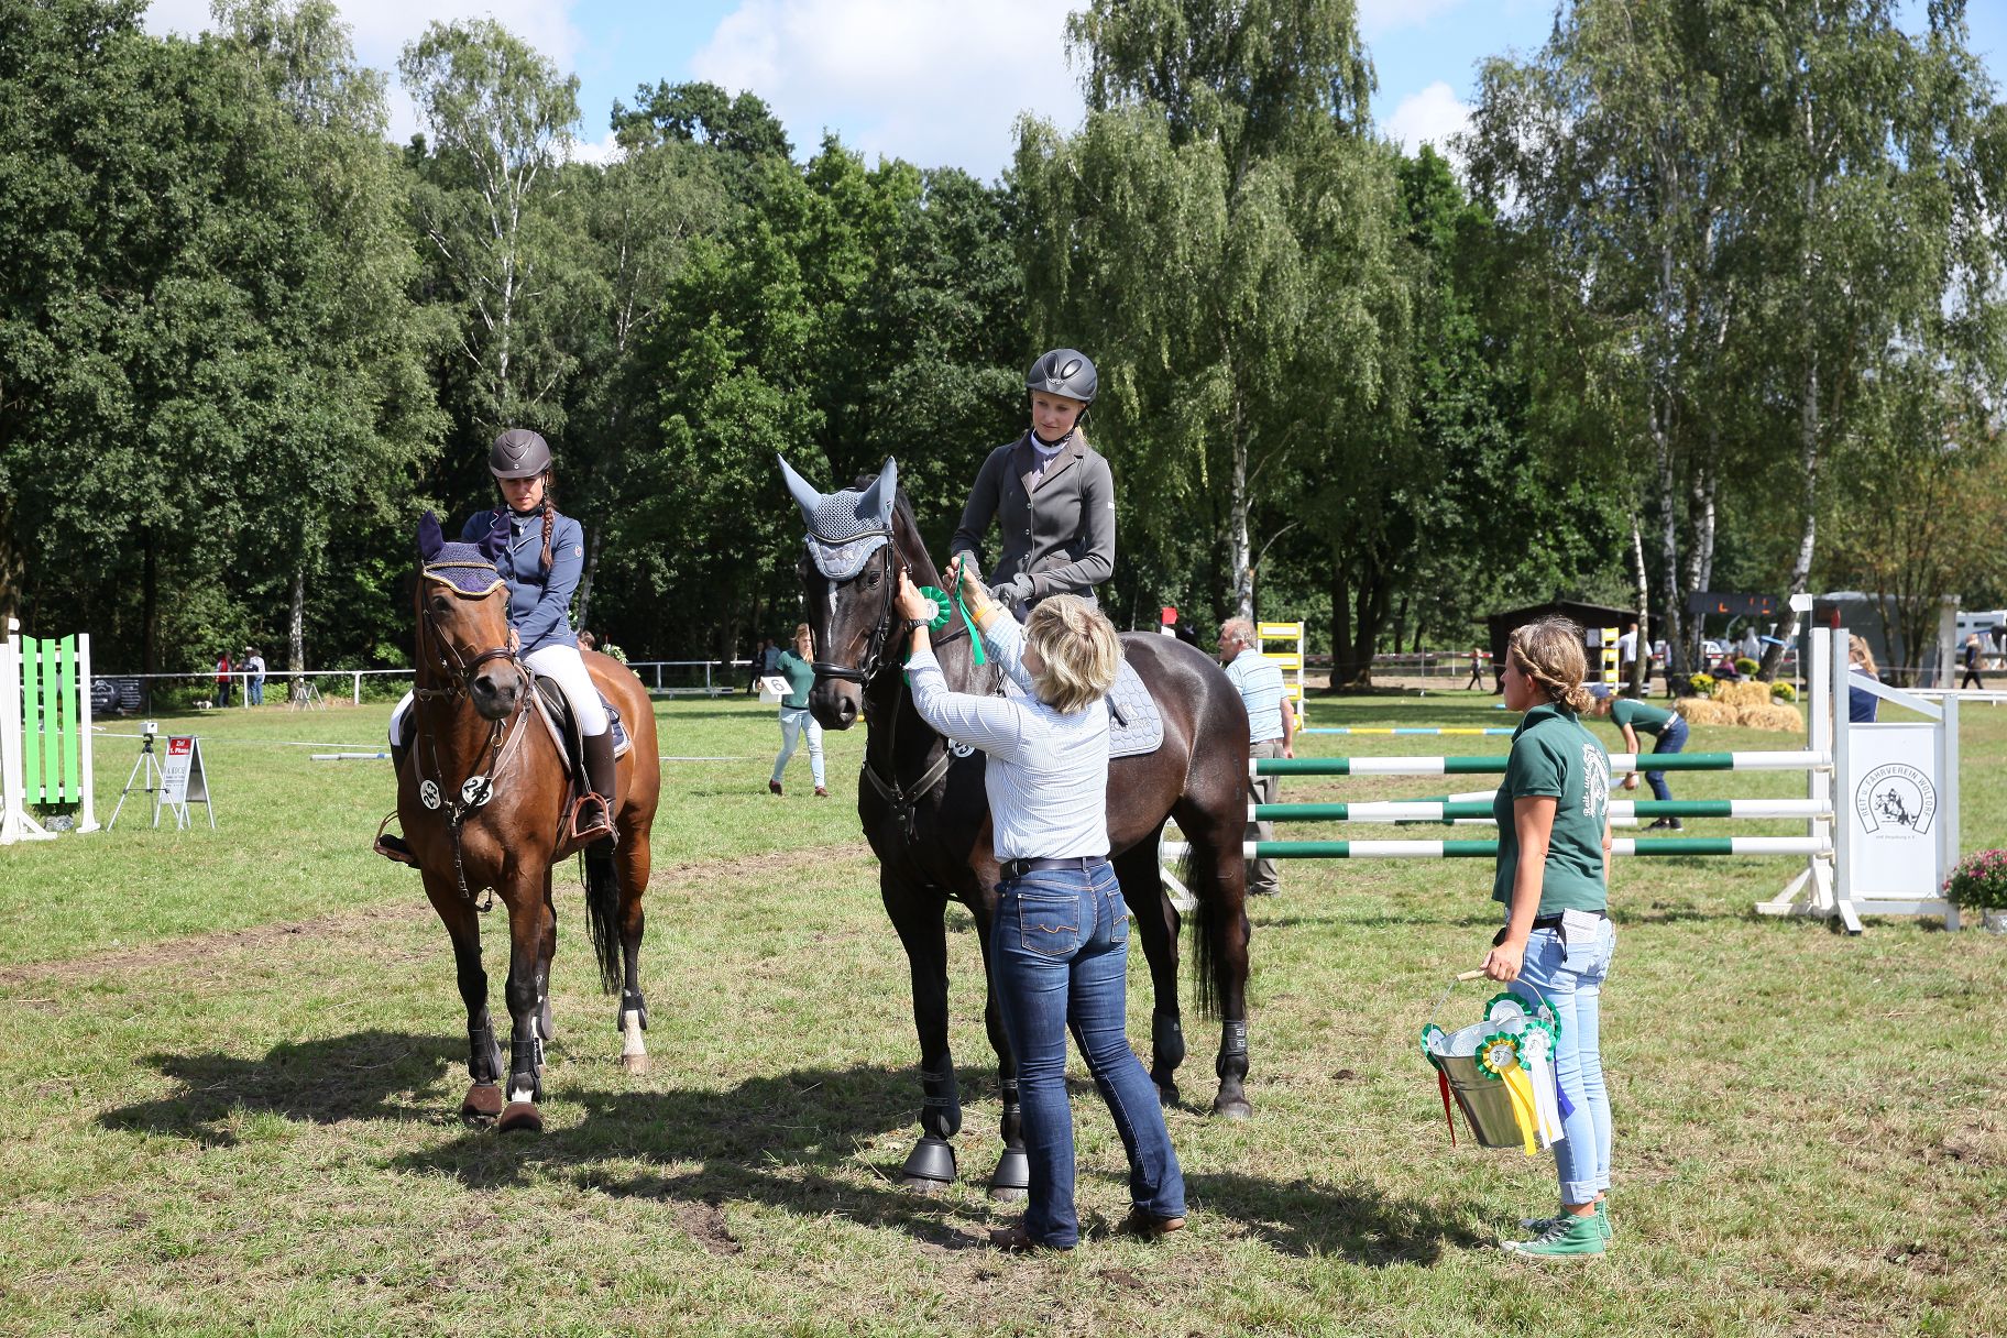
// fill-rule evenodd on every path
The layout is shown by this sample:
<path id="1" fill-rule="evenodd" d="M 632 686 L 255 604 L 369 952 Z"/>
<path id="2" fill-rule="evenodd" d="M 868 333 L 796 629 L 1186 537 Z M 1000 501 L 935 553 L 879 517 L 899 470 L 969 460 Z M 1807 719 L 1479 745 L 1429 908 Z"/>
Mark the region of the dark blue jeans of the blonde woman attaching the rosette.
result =
<path id="1" fill-rule="evenodd" d="M 1116 871 L 1030 873 L 997 887 L 989 973 L 1004 1033 L 1018 1055 L 1018 1099 L 1032 1194 L 1024 1230 L 1060 1250 L 1080 1242 L 1074 1214 L 1074 1111 L 1066 1101 L 1066 1033 L 1094 1073 L 1130 1161 L 1130 1202 L 1184 1216 L 1184 1176 L 1156 1083 L 1124 1035 L 1128 907 Z"/>

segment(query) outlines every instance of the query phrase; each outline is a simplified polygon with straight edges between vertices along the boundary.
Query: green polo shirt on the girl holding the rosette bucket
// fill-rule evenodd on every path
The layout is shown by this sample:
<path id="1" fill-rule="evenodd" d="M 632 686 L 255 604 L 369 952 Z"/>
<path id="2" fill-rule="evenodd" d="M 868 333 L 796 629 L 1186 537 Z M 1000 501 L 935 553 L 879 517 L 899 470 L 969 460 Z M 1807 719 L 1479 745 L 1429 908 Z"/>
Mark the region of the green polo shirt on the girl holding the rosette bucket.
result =
<path id="1" fill-rule="evenodd" d="M 1491 901 L 1505 905 L 1511 905 L 1511 881 L 1519 865 L 1519 832 L 1511 820 L 1515 798 L 1555 800 L 1537 915 L 1602 911 L 1610 895 L 1604 885 L 1610 752 L 1582 726 L 1575 712 L 1553 702 L 1535 706 L 1511 734 L 1505 780 L 1491 800 L 1491 816 L 1499 822 L 1499 867 L 1491 879 Z"/>

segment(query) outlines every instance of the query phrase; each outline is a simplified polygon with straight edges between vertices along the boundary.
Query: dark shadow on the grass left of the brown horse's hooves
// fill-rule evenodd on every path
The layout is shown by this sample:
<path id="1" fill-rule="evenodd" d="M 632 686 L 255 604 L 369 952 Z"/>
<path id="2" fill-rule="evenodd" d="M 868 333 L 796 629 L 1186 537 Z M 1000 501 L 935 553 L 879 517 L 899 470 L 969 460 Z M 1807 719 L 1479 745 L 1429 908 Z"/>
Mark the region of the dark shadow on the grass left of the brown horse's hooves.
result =
<path id="1" fill-rule="evenodd" d="M 343 1119 L 438 1119 L 442 1109 L 413 1103 L 450 1065 L 466 1061 L 466 1043 L 444 1035 L 355 1031 L 321 1041 L 287 1041 L 263 1059 L 237 1055 L 142 1055 L 140 1063 L 181 1083 L 181 1091 L 98 1115 L 106 1129 L 140 1129 L 231 1147 L 237 1111 L 273 1113 L 309 1123 Z M 448 1111 L 450 1113 L 450 1111 Z"/>

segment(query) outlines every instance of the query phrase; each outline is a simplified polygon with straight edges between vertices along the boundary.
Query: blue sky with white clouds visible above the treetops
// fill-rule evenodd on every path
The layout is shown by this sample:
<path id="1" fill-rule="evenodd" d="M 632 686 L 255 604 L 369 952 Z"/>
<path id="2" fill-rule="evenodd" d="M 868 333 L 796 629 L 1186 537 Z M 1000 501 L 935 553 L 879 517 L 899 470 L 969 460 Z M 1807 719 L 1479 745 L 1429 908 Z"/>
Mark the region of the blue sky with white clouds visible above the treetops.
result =
<path id="1" fill-rule="evenodd" d="M 1072 126 L 1080 94 L 1062 24 L 1082 0 L 337 0 L 357 54 L 393 68 L 434 18 L 494 14 L 580 78 L 580 152 L 606 152 L 614 98 L 708 78 L 775 106 L 799 148 L 825 130 L 869 156 L 995 177 L 1024 110 Z M 1923 4 L 1907 6 L 1923 22 Z M 1971 0 L 1973 46 L 2007 86 L 2007 0 Z M 207 0 L 155 0 L 149 26 L 191 32 Z M 1381 128 L 1415 146 L 1463 122 L 1477 64 L 1537 48 L 1551 0 L 1359 0 Z M 415 128 L 393 94 L 397 138 Z"/>

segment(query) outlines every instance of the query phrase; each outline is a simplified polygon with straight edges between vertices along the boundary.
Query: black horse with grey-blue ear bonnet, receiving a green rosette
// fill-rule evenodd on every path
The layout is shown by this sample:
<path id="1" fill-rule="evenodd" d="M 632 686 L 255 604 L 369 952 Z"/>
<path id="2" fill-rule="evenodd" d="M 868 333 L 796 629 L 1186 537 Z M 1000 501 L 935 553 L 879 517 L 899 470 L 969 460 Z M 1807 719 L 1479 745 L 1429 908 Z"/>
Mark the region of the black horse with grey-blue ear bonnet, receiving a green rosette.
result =
<path id="1" fill-rule="evenodd" d="M 951 746 L 913 708 L 899 668 L 901 628 L 893 590 L 905 568 L 917 586 L 941 588 L 913 510 L 897 485 L 897 461 L 877 479 L 823 495 L 783 459 L 809 524 L 801 560 L 801 590 L 815 634 L 815 688 L 809 708 L 823 728 L 847 730 L 869 722 L 865 766 L 857 784 L 857 816 L 879 857 L 879 897 L 899 933 L 913 975 L 913 1025 L 919 1031 L 921 1135 L 901 1180 L 937 1188 L 955 1180 L 947 1141 L 961 1129 L 961 1095 L 947 1047 L 947 933 L 943 915 L 955 899 L 975 917 L 987 975 L 989 925 L 997 901 L 989 798 L 983 754 Z M 933 654 L 955 692 L 999 690 L 991 668 L 977 668 L 973 644 L 959 622 L 935 634 Z M 1234 1119 L 1252 1113 L 1248 1071 L 1246 867 L 1240 843 L 1248 820 L 1248 716 L 1224 670 L 1194 646 L 1170 636 L 1124 634 L 1122 650 L 1136 666 L 1164 716 L 1156 752 L 1108 764 L 1110 861 L 1122 899 L 1136 917 L 1150 963 L 1150 1077 L 1166 1105 L 1178 1101 L 1176 1069 L 1184 1059 L 1178 1011 L 1178 909 L 1164 895 L 1158 839 L 1176 818 L 1190 843 L 1186 883 L 1196 909 L 1196 985 L 1202 1013 L 1218 1013 L 1220 1085 L 1212 1111 Z M 1104 706 L 1094 706 L 1104 710 Z M 995 1198 L 1022 1198 L 1028 1182 L 1018 1063 L 1004 1035 L 993 995 L 983 1007 L 989 1045 L 997 1055 L 1004 1153 L 989 1178 Z"/>

